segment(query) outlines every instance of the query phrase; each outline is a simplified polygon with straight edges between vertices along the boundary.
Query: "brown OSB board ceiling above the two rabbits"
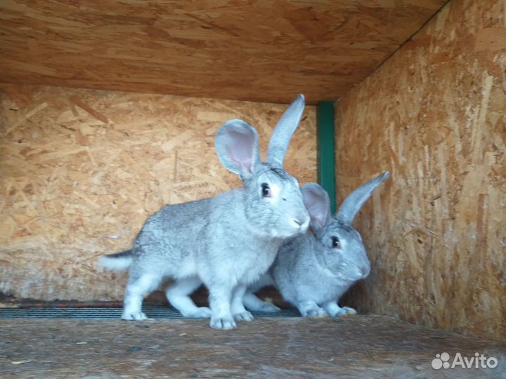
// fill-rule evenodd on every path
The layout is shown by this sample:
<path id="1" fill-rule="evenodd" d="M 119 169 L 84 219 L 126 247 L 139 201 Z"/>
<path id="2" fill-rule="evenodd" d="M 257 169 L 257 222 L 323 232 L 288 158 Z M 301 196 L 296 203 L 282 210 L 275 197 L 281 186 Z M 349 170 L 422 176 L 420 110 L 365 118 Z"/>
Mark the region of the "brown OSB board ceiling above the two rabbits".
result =
<path id="1" fill-rule="evenodd" d="M 337 100 L 445 0 L 0 2 L 0 81 Z"/>

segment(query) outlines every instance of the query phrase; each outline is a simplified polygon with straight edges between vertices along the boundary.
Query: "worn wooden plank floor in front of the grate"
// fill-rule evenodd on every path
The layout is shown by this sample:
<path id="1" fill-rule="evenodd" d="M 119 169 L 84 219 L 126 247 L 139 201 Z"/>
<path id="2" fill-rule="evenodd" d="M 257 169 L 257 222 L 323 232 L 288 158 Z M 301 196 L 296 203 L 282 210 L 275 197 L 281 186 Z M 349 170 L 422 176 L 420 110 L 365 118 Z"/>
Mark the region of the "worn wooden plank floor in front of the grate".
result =
<path id="1" fill-rule="evenodd" d="M 1 378 L 506 378 L 506 345 L 380 316 L 0 321 Z M 496 368 L 434 370 L 475 352 Z"/>

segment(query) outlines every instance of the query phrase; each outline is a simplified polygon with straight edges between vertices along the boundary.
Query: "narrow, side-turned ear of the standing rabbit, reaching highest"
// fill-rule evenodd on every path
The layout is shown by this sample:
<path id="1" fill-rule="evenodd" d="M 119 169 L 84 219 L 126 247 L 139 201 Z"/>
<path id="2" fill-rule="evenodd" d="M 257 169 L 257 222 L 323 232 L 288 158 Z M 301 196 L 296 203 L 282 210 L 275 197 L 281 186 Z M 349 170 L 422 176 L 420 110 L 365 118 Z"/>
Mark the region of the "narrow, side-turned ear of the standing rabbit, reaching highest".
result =
<path id="1" fill-rule="evenodd" d="M 290 107 L 283 113 L 269 141 L 267 152 L 267 163 L 273 166 L 283 167 L 283 160 L 290 144 L 292 135 L 299 126 L 304 112 L 304 95 L 298 95 L 290 104 Z"/>

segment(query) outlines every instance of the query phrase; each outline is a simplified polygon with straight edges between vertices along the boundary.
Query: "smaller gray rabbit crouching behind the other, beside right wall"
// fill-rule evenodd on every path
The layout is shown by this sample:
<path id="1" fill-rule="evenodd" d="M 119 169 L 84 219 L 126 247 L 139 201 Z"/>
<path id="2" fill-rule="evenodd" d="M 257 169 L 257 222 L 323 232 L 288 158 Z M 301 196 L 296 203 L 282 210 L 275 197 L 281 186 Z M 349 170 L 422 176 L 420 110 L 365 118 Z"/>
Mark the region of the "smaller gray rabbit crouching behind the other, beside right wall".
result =
<path id="1" fill-rule="evenodd" d="M 325 189 L 316 183 L 301 188 L 304 204 L 311 215 L 311 229 L 288 239 L 281 246 L 271 270 L 249 288 L 244 302 L 248 309 L 278 310 L 254 295 L 262 286 L 274 284 L 283 298 L 294 304 L 304 317 L 332 317 L 355 314 L 337 301 L 356 281 L 370 272 L 370 263 L 361 235 L 351 223 L 374 189 L 389 177 L 384 172 L 355 189 L 334 217 Z"/>

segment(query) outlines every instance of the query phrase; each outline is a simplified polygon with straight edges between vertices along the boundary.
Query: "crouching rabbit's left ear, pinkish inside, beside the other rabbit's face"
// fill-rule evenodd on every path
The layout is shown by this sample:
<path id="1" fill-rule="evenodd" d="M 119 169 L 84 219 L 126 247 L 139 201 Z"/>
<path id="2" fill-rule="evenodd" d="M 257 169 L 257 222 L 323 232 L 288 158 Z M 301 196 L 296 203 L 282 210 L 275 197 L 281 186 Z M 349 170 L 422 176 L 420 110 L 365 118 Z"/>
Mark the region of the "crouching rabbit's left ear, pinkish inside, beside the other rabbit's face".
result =
<path id="1" fill-rule="evenodd" d="M 318 235 L 330 221 L 330 201 L 327 191 L 316 183 L 307 183 L 301 187 L 304 205 L 311 216 L 311 227 Z"/>

